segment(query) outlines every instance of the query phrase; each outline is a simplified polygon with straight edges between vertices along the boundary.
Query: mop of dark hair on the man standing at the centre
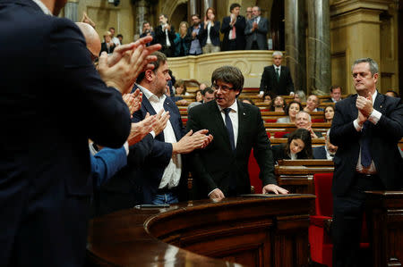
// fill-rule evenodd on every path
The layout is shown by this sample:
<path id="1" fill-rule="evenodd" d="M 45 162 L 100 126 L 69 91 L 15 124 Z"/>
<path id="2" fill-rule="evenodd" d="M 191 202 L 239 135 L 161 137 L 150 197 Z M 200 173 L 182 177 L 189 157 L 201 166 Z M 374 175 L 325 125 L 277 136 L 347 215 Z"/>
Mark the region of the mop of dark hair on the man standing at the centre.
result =
<path id="1" fill-rule="evenodd" d="M 211 74 L 211 84 L 214 84 L 217 80 L 230 83 L 233 86 L 233 90 L 239 90 L 239 95 L 244 88 L 244 75 L 242 72 L 234 66 L 222 66 L 213 71 Z"/>

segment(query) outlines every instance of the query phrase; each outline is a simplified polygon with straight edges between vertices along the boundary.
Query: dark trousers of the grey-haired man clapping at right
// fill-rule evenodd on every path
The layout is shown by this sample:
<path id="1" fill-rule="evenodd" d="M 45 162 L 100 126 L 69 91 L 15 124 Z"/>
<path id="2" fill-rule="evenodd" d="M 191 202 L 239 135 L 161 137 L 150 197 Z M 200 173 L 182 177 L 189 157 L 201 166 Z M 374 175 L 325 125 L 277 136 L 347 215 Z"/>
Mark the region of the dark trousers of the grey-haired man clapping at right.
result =
<path id="1" fill-rule="evenodd" d="M 356 174 L 355 182 L 344 196 L 333 196 L 333 267 L 371 266 L 372 255 L 360 256 L 359 245 L 367 190 L 382 190 L 379 176 Z M 369 229 L 369 228 L 368 228 Z"/>

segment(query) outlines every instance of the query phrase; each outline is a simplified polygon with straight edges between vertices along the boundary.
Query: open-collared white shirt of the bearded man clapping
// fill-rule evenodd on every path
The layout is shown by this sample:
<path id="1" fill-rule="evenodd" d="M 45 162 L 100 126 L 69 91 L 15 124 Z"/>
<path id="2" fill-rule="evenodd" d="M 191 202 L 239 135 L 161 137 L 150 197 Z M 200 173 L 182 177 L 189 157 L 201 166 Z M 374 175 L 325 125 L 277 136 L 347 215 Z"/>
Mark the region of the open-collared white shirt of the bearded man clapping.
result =
<path id="1" fill-rule="evenodd" d="M 152 94 L 148 89 L 141 88 L 144 96 L 150 101 L 151 106 L 154 108 L 156 113 L 164 109 L 164 101 L 167 96 L 156 96 Z M 164 139 L 166 143 L 176 143 L 176 136 L 174 129 L 172 128 L 171 121 L 167 121 L 167 127 L 164 129 Z M 180 154 L 173 154 L 171 160 L 167 164 L 165 171 L 162 175 L 161 182 L 159 183 L 159 188 L 175 188 L 179 184 L 179 179 L 182 173 L 182 158 Z"/>

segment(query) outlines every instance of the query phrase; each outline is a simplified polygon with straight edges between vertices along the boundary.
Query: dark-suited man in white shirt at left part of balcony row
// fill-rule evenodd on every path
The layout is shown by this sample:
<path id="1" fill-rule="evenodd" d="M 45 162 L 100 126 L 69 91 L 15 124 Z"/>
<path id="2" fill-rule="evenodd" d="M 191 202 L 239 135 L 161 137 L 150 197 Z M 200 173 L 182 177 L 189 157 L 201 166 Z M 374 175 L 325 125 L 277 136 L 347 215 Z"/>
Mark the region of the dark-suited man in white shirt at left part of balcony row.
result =
<path id="1" fill-rule="evenodd" d="M 159 15 L 159 26 L 154 30 L 155 40 L 154 44 L 162 46 L 161 52 L 168 57 L 175 54 L 175 28 L 168 23 L 167 15 Z"/>

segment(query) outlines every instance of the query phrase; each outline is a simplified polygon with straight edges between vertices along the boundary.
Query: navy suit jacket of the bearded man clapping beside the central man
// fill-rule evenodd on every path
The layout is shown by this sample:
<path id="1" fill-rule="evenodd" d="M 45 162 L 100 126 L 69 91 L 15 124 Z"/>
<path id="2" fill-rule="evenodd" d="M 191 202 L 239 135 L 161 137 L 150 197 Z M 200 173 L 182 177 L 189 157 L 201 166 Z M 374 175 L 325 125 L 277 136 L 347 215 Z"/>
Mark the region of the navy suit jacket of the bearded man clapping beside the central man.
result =
<path id="1" fill-rule="evenodd" d="M 184 136 L 182 119 L 176 104 L 168 96 L 164 103 L 164 109 L 170 114 L 169 121 L 174 129 L 176 141 L 179 141 Z M 150 101 L 147 97 L 143 96 L 141 109 L 133 114 L 133 122 L 143 120 L 146 113 L 150 113 L 150 115 L 156 114 Z M 151 153 L 145 158 L 144 163 L 141 164 L 140 168 L 137 169 L 136 177 L 133 180 L 135 188 L 139 190 L 136 194 L 139 196 L 137 200 L 139 204 L 151 204 L 153 197 L 159 189 L 162 174 L 171 160 L 171 157 L 172 144 L 165 142 L 164 132 L 161 132 L 157 137 L 155 137 Z M 182 165 L 185 165 L 184 156 L 182 157 Z M 186 171 L 183 170 L 179 188 L 182 189 L 185 185 L 187 185 L 187 176 Z M 187 190 L 181 190 L 179 193 L 179 198 L 184 199 Z"/>

